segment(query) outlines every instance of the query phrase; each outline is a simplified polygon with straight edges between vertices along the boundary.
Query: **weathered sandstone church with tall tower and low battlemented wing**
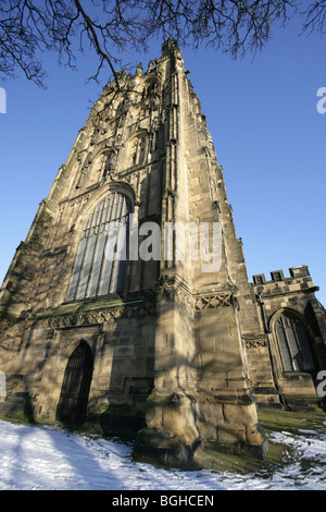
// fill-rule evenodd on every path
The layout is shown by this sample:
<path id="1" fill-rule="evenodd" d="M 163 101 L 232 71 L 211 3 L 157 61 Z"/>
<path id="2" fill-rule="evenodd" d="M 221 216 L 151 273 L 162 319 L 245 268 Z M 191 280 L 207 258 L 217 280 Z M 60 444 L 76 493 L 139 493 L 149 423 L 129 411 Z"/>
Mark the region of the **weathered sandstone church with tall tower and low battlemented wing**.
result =
<path id="1" fill-rule="evenodd" d="M 306 266 L 249 281 L 187 74 L 166 41 L 79 131 L 1 288 L 0 415 L 133 427 L 171 463 L 263 458 L 256 406 L 321 400 L 326 316 Z"/>

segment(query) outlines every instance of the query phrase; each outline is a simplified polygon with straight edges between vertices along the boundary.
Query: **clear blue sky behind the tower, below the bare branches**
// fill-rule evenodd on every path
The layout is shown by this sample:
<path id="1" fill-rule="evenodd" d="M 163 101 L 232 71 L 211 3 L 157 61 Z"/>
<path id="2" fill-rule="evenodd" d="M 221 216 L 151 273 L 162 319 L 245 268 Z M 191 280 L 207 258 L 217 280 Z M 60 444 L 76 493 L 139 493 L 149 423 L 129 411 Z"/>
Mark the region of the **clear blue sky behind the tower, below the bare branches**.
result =
<path id="1" fill-rule="evenodd" d="M 326 39 L 298 37 L 299 25 L 274 32 L 254 58 L 234 61 L 215 50 L 183 49 L 185 66 L 223 164 L 237 235 L 248 275 L 308 265 L 326 305 L 326 113 L 317 112 L 326 87 Z M 146 69 L 162 41 L 125 61 Z M 38 204 L 106 83 L 85 84 L 95 56 L 80 57 L 78 71 L 43 56 L 49 78 L 39 89 L 23 76 L 0 83 L 7 113 L 0 114 L 0 281 L 25 240 Z M 109 76 L 109 75 L 108 75 Z"/>

